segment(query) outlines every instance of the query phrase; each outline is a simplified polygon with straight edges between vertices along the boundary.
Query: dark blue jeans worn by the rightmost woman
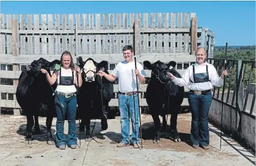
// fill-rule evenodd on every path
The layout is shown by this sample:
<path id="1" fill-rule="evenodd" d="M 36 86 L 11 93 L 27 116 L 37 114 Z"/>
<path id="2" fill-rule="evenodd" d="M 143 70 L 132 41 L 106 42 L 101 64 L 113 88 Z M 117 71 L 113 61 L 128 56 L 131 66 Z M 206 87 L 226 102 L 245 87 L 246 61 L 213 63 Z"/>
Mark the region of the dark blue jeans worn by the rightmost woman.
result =
<path id="1" fill-rule="evenodd" d="M 207 95 L 194 95 L 189 92 L 188 102 L 192 114 L 192 145 L 209 145 L 208 113 L 211 106 L 211 92 Z"/>

